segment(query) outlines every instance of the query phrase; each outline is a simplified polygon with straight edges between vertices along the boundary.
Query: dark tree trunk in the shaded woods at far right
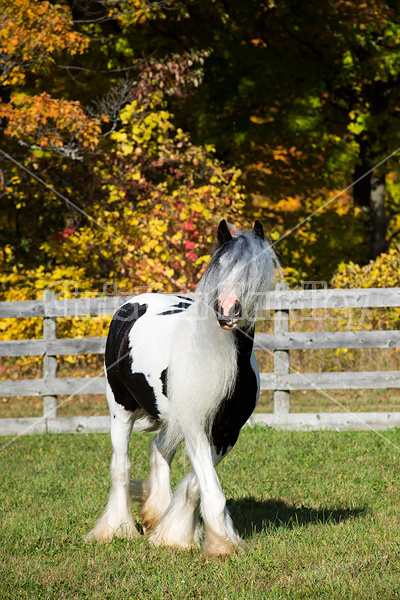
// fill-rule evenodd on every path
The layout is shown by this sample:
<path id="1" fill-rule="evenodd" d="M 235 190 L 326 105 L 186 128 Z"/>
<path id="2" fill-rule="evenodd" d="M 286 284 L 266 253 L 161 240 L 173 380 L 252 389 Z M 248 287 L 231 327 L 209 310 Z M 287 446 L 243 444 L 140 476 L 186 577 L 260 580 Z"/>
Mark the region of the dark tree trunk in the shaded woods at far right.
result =
<path id="1" fill-rule="evenodd" d="M 376 161 L 372 156 L 371 145 L 365 140 L 360 144 L 360 164 L 355 166 L 354 179 L 357 180 L 374 168 Z M 387 250 L 387 217 L 385 211 L 385 175 L 378 175 L 371 171 L 356 183 L 353 188 L 354 202 L 357 206 L 368 208 L 370 219 L 370 244 L 369 259 L 375 260 L 377 256 Z"/>

